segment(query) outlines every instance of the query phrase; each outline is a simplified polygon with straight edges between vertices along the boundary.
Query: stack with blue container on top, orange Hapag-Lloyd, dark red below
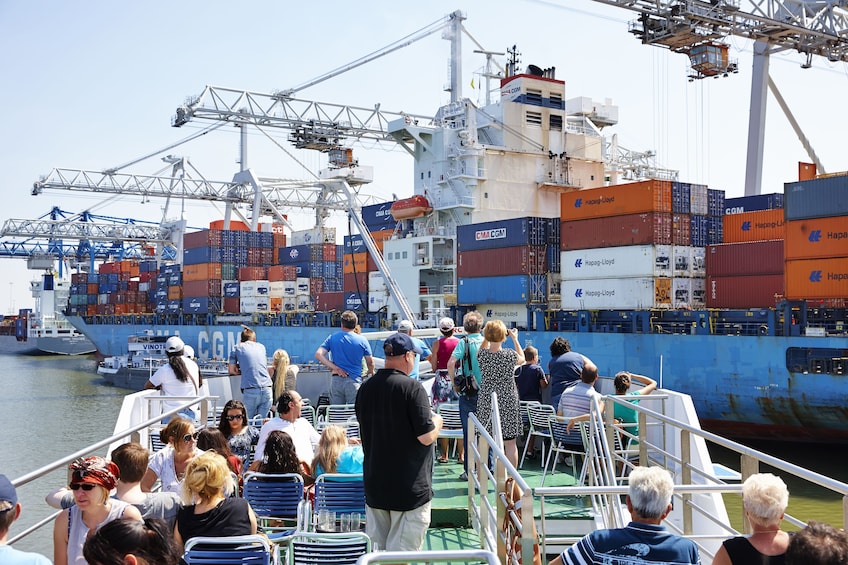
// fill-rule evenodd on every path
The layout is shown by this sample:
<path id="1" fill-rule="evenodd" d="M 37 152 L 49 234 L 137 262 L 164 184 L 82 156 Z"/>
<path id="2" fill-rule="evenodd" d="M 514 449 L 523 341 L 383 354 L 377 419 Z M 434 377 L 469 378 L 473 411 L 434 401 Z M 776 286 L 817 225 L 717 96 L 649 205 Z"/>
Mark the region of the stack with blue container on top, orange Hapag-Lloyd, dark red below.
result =
<path id="1" fill-rule="evenodd" d="M 783 195 L 726 199 L 723 243 L 707 248 L 707 307 L 774 307 L 784 294 L 783 238 Z"/>

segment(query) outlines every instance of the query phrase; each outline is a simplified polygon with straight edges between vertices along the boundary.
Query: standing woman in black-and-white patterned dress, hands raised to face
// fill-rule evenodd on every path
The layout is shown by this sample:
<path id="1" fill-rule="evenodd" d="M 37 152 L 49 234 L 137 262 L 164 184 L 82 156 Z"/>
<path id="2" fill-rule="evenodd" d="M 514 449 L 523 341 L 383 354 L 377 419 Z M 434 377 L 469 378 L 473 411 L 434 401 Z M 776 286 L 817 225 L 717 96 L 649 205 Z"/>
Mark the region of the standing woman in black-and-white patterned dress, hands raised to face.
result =
<path id="1" fill-rule="evenodd" d="M 513 349 L 504 349 L 507 336 Z M 480 394 L 477 397 L 477 418 L 492 432 L 492 392 L 498 395 L 504 453 L 518 467 L 518 447 L 515 439 L 524 431 L 521 422 L 521 403 L 515 386 L 515 367 L 524 364 L 524 350 L 518 342 L 518 329 L 507 331 L 501 320 L 490 320 L 483 328 L 483 344 L 477 352 L 480 363 Z"/>

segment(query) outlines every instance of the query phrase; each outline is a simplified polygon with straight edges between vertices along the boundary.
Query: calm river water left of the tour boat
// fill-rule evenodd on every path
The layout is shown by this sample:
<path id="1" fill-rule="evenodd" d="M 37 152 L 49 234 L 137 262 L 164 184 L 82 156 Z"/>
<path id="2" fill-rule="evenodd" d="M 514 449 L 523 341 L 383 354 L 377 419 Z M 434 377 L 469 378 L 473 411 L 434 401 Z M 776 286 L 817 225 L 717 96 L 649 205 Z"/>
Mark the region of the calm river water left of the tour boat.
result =
<path id="1" fill-rule="evenodd" d="M 126 390 L 106 386 L 91 355 L 27 355 L 14 338 L 0 336 L 0 472 L 16 479 L 112 435 Z M 105 449 L 99 455 L 105 454 Z M 11 535 L 51 515 L 44 495 L 66 484 L 57 471 L 18 488 L 23 505 Z M 15 544 L 53 557 L 52 526 Z"/>

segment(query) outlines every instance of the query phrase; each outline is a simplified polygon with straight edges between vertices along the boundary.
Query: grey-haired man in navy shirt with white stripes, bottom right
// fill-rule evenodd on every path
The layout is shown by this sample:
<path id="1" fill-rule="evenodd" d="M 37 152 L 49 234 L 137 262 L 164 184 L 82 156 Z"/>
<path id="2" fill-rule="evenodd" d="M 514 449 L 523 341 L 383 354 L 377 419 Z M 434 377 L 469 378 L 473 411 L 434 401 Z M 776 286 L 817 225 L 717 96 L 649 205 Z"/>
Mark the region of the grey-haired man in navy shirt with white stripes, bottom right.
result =
<path id="1" fill-rule="evenodd" d="M 662 467 L 636 467 L 630 473 L 624 528 L 596 530 L 562 552 L 549 565 L 662 563 L 699 565 L 698 546 L 670 534 L 660 523 L 671 512 L 674 482 Z"/>

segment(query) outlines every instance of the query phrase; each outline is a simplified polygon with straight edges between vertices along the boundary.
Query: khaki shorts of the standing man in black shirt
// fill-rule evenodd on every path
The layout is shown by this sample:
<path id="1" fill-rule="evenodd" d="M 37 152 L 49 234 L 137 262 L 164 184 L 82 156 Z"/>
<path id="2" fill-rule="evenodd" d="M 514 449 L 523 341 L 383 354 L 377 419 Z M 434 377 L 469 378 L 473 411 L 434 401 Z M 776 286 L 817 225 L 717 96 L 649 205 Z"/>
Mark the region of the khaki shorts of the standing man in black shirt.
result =
<path id="1" fill-rule="evenodd" d="M 413 510 L 365 506 L 365 533 L 385 551 L 420 551 L 430 527 L 430 502 Z"/>

